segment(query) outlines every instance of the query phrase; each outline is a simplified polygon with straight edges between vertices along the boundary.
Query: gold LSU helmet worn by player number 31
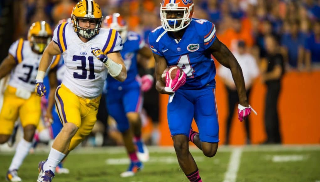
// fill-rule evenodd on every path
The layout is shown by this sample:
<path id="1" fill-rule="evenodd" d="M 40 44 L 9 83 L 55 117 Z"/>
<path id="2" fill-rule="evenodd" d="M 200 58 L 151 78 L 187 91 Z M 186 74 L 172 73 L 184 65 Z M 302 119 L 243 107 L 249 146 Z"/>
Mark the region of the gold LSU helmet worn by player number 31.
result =
<path id="1" fill-rule="evenodd" d="M 102 12 L 99 4 L 93 0 L 81 0 L 76 4 L 72 10 L 71 20 L 73 23 L 73 30 L 81 37 L 92 38 L 99 34 L 102 22 Z M 96 24 L 94 29 L 86 29 L 79 26 L 79 20 L 84 19 Z"/>

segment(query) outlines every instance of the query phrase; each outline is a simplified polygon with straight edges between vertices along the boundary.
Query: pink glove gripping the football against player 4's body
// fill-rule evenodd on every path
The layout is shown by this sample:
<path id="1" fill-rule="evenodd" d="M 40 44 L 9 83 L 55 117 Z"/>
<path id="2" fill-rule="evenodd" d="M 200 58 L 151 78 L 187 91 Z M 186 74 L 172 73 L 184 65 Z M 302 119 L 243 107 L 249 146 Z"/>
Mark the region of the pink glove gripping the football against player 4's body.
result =
<path id="1" fill-rule="evenodd" d="M 169 71 L 165 75 L 165 87 L 164 90 L 167 92 L 175 92 L 182 85 L 186 83 L 187 74 L 182 71 L 182 75 L 180 75 L 180 70 L 177 70 L 176 77 L 174 79 L 170 79 Z"/>

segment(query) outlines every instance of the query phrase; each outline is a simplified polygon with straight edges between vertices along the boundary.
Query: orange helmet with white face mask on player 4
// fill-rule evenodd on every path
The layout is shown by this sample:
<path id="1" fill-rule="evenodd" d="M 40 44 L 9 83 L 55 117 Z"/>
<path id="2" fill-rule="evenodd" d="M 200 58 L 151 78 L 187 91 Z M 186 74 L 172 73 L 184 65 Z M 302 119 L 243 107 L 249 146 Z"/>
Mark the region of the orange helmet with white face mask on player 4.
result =
<path id="1" fill-rule="evenodd" d="M 162 27 L 167 31 L 179 31 L 186 28 L 193 15 L 192 0 L 163 0 L 160 7 L 160 18 Z M 182 18 L 167 18 L 167 11 L 183 11 Z M 178 21 L 181 23 L 178 25 Z"/>

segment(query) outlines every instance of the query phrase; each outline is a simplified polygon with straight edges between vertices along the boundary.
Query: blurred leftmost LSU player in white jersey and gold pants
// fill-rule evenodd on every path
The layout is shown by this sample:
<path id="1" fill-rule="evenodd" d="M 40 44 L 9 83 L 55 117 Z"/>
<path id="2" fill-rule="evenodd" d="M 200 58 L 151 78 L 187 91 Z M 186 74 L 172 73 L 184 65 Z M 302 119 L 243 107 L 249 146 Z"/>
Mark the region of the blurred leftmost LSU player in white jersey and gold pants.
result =
<path id="1" fill-rule="evenodd" d="M 0 113 L 0 144 L 8 141 L 18 117 L 20 117 L 24 131 L 24 136 L 17 145 L 16 153 L 6 175 L 9 181 L 21 181 L 17 171 L 31 148 L 32 139 L 41 117 L 40 97 L 36 96 L 33 91 L 40 58 L 51 41 L 51 37 L 52 30 L 48 23 L 45 21 L 33 23 L 28 32 L 28 40 L 20 38 L 14 42 L 9 49 L 8 56 L 0 65 L 0 79 L 11 71 Z M 50 66 L 49 79 L 53 89 L 57 88 L 55 67 L 59 60 L 60 56 L 54 59 Z M 53 105 L 54 94 L 51 98 L 49 104 Z"/>

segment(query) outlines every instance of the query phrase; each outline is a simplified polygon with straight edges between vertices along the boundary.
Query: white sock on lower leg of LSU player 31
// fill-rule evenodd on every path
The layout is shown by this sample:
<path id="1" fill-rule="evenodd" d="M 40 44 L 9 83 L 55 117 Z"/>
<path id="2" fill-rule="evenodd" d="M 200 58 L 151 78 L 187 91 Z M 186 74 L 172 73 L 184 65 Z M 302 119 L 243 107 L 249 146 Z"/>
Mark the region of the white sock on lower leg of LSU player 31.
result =
<path id="1" fill-rule="evenodd" d="M 66 154 L 54 148 L 51 148 L 48 156 L 48 160 L 43 165 L 43 170 L 44 171 L 51 170 L 54 173 L 56 170 L 56 167 L 60 164 L 64 156 L 66 156 Z"/>

